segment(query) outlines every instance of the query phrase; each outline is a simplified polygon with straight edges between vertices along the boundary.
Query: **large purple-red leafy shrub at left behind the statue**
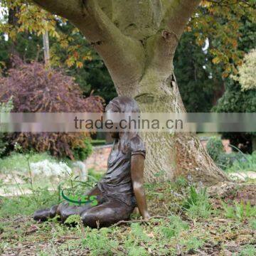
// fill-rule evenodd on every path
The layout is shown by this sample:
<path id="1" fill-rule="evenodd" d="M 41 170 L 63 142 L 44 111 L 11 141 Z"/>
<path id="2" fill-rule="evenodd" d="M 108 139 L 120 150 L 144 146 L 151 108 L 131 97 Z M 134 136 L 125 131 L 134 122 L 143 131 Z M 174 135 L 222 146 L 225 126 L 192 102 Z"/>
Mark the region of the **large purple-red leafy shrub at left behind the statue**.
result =
<path id="1" fill-rule="evenodd" d="M 13 97 L 13 112 L 102 112 L 102 98 L 83 97 L 74 79 L 62 70 L 52 70 L 41 63 L 14 60 L 9 76 L 0 78 L 0 102 Z M 85 133 L 14 133 L 12 144 L 18 142 L 24 151 L 50 151 L 53 156 L 75 159 L 89 134 Z M 73 152 L 75 149 L 75 153 Z M 85 156 L 85 154 L 83 154 Z"/>

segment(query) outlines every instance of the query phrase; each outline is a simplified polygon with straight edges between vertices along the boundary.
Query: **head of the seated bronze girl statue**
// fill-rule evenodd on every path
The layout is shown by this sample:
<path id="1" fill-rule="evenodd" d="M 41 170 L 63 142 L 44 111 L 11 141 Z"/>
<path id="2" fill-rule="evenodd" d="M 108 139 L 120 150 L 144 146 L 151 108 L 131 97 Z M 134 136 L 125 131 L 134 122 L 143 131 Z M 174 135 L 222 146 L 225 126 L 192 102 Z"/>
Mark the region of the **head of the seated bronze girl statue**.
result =
<path id="1" fill-rule="evenodd" d="M 119 96 L 115 97 L 113 100 L 110 101 L 110 103 L 107 105 L 105 112 L 108 114 L 111 113 L 139 113 L 139 105 L 137 102 L 132 99 L 131 97 L 126 96 Z M 120 131 L 119 132 L 110 132 L 111 136 L 113 138 L 119 138 L 120 137 Z M 129 137 L 133 137 L 137 132 L 122 132 Z"/>

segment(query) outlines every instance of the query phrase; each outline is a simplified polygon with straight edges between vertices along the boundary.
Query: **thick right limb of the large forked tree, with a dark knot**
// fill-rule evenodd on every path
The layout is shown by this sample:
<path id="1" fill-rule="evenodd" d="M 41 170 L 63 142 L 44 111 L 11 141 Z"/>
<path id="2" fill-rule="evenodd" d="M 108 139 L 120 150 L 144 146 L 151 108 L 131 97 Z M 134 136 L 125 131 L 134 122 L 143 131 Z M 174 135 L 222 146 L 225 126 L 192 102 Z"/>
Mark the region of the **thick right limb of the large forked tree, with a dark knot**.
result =
<path id="1" fill-rule="evenodd" d="M 161 70 L 158 77 L 169 78 L 173 72 L 173 58 L 178 41 L 189 18 L 201 0 L 171 0 L 164 5 L 161 26 L 147 42 L 151 69 Z M 154 50 L 152 50 L 154 49 Z"/>

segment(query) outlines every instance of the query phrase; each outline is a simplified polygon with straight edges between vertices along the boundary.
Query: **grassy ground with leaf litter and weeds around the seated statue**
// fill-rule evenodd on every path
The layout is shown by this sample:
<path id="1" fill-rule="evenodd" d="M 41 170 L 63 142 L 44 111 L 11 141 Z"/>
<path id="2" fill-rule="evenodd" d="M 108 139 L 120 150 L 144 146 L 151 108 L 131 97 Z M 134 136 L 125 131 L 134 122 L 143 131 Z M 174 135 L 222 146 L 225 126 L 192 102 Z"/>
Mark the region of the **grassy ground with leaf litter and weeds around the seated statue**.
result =
<path id="1" fill-rule="evenodd" d="M 58 193 L 46 188 L 28 196 L 0 198 L 0 254 L 232 255 L 234 248 L 230 251 L 228 246 L 233 241 L 238 255 L 255 255 L 255 217 L 249 206 L 231 203 L 229 207 L 240 208 L 242 218 L 230 218 L 218 198 L 209 198 L 207 191 L 189 186 L 183 178 L 145 187 L 151 215 L 165 218 L 100 230 L 84 227 L 78 216 L 69 220 L 76 226 L 56 219 L 33 221 L 34 210 L 58 202 Z M 132 214 L 132 220 L 138 221 L 139 215 Z"/>

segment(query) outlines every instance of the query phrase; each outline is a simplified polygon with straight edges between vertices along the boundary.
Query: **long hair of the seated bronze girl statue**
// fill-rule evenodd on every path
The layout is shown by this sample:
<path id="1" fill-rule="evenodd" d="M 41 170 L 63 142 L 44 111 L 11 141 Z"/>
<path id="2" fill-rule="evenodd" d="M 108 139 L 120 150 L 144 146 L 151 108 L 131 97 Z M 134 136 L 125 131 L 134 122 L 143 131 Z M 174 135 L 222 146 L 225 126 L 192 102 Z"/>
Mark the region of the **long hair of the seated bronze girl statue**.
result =
<path id="1" fill-rule="evenodd" d="M 114 112 L 119 113 L 140 113 L 139 105 L 136 100 L 131 97 L 120 96 L 115 97 L 110 103 L 107 105 L 105 111 L 113 110 Z M 138 136 L 138 132 L 136 131 L 124 131 L 119 132 L 120 139 L 120 150 L 125 154 L 129 149 L 129 144 L 131 139 Z"/>

